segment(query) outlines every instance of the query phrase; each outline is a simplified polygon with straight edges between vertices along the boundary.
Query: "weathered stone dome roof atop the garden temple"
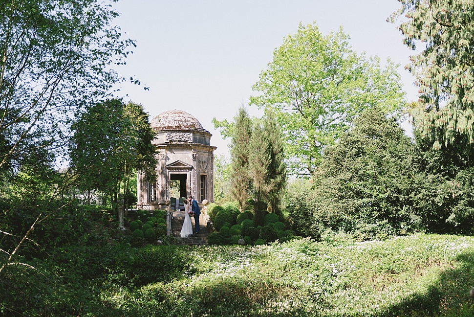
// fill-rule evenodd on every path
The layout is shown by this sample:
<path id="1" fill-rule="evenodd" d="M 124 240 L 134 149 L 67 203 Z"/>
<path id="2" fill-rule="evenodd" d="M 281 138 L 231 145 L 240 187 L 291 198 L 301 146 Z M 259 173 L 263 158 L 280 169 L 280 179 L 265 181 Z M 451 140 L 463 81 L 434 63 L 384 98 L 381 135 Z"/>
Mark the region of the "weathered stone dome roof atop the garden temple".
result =
<path id="1" fill-rule="evenodd" d="M 206 131 L 201 123 L 191 114 L 170 110 L 155 116 L 151 122 L 151 128 L 155 131 L 163 130 L 201 130 Z"/>

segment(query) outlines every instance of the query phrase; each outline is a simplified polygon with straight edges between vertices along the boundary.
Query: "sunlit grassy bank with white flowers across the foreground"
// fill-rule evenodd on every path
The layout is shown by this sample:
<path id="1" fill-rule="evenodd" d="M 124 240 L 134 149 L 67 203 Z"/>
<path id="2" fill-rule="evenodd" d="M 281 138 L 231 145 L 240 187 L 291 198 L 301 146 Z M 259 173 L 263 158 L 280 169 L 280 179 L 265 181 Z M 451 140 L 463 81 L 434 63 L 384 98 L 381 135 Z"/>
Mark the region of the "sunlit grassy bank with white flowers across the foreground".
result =
<path id="1" fill-rule="evenodd" d="M 176 317 L 474 313 L 468 295 L 474 284 L 473 237 L 418 234 L 356 243 L 331 236 L 318 243 L 294 240 L 260 247 L 122 246 L 96 249 L 92 255 L 90 251 L 62 249 L 53 257 L 31 259 L 37 270 L 17 269 L 7 279 L 10 288 L 2 282 L 1 291 L 36 297 L 22 300 L 23 307 L 14 307 L 5 298 L 3 313 Z M 26 277 L 34 292 L 20 285 Z"/>

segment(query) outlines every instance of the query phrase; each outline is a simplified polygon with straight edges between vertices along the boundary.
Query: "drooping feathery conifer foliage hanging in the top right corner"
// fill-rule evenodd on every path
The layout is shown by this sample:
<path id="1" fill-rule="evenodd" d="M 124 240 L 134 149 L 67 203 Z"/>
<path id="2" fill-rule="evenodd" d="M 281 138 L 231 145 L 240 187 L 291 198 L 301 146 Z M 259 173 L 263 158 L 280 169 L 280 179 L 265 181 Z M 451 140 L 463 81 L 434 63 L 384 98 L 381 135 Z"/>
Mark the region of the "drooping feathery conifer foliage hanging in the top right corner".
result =
<path id="1" fill-rule="evenodd" d="M 389 21 L 398 22 L 404 43 L 415 49 L 407 66 L 419 87 L 419 106 L 412 110 L 415 126 L 433 147 L 456 138 L 474 143 L 474 2 L 399 0 L 402 7 Z"/>

